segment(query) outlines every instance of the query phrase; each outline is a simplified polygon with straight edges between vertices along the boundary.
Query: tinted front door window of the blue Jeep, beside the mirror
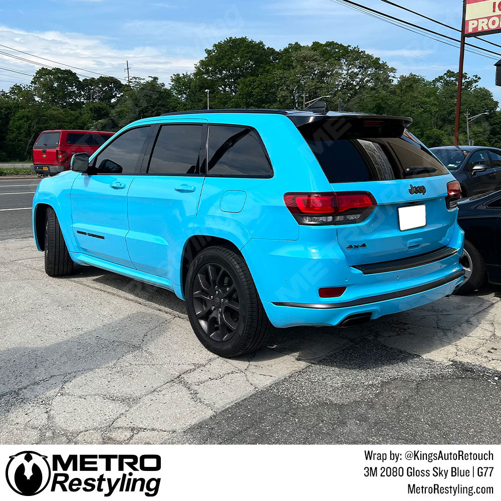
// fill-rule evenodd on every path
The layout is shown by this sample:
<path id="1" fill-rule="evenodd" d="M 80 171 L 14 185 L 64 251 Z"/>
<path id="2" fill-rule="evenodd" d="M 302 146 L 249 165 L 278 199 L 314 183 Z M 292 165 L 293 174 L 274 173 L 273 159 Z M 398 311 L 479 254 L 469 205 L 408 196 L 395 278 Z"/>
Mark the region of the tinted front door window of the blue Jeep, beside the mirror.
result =
<path id="1" fill-rule="evenodd" d="M 95 159 L 98 174 L 133 174 L 149 127 L 124 132 Z"/>

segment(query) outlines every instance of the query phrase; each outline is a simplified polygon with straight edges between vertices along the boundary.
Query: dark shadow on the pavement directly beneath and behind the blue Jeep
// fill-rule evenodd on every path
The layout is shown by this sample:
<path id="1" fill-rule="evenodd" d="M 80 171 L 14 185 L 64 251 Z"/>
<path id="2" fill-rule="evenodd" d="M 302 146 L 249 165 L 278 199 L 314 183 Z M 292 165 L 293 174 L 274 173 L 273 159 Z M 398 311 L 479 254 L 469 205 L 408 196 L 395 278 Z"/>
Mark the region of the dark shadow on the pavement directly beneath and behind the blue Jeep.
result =
<path id="1" fill-rule="evenodd" d="M 81 268 L 76 275 L 76 278 L 79 277 L 91 279 L 97 287 L 121 291 L 138 300 L 186 315 L 185 303 L 170 291 L 93 267 Z M 268 344 L 272 349 L 261 350 L 250 356 L 250 359 L 266 362 L 284 355 L 294 355 L 298 360 L 325 363 L 322 359 L 328 354 L 367 339 L 376 339 L 397 348 L 409 358 L 425 356 L 436 350 L 447 349 L 467 338 L 481 322 L 478 316 L 486 316 L 492 309 L 492 302 L 482 297 L 492 292 L 499 295 L 497 287 L 485 286 L 480 292 L 470 296 L 443 298 L 415 310 L 349 328 L 274 329 Z M 475 316 L 476 321 L 471 321 Z M 249 360 L 249 357 L 239 357 L 238 360 Z M 391 360 L 363 358 L 359 368 L 391 363 Z"/>

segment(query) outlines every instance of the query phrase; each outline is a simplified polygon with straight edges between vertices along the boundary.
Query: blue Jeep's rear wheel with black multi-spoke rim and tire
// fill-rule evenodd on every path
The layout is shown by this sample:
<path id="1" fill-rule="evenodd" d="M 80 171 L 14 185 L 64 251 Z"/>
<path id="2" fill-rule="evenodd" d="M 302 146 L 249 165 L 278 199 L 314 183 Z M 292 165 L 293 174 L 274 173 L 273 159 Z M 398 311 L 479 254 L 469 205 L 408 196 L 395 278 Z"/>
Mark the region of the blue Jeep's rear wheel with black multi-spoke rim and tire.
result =
<path id="1" fill-rule="evenodd" d="M 189 266 L 185 291 L 191 327 L 207 350 L 231 358 L 267 342 L 272 325 L 245 261 L 231 249 L 202 250 Z"/>

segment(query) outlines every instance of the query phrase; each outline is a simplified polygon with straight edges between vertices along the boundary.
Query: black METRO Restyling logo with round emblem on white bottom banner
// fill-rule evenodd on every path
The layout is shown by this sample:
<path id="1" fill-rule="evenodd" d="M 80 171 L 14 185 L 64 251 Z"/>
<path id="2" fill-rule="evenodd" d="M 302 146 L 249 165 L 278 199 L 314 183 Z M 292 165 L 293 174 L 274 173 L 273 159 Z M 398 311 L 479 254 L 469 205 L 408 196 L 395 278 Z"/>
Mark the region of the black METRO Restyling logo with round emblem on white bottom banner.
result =
<path id="1" fill-rule="evenodd" d="M 159 471 L 161 458 L 157 454 L 60 454 L 52 456 L 51 468 L 47 456 L 23 451 L 10 456 L 6 468 L 9 486 L 18 494 L 34 495 L 49 482 L 51 492 L 101 492 L 105 497 L 114 492 L 144 492 L 155 496 L 160 477 L 150 476 Z M 88 472 L 96 472 L 90 474 Z M 99 473 L 99 474 L 98 474 Z"/>

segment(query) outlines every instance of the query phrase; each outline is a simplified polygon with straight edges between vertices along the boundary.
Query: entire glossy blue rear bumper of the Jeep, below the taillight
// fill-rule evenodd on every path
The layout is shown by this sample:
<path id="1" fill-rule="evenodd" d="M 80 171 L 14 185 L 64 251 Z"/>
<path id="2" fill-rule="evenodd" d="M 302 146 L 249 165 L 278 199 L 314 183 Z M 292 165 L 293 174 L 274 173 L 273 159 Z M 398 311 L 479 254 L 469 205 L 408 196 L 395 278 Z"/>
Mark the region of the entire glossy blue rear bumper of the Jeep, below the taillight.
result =
<path id="1" fill-rule="evenodd" d="M 332 231 L 317 230 L 309 241 L 253 239 L 242 254 L 273 325 L 332 326 L 351 315 L 378 318 L 452 294 L 463 281 L 463 240 L 455 225 L 436 252 L 366 267 L 348 265 Z M 339 298 L 319 296 L 320 288 L 343 286 Z"/>

